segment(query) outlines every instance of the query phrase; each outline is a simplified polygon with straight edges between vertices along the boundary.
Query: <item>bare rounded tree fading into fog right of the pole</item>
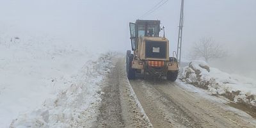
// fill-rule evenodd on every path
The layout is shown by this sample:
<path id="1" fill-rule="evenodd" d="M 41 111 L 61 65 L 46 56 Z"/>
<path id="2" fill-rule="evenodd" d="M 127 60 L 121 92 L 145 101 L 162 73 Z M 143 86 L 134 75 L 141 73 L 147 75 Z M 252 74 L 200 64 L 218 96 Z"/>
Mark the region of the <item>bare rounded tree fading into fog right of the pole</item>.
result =
<path id="1" fill-rule="evenodd" d="M 227 52 L 225 52 L 222 47 L 219 44 L 216 44 L 211 38 L 201 38 L 199 42 L 192 47 L 191 52 L 189 52 L 189 58 L 204 58 L 207 62 L 225 56 L 227 56 Z"/>

